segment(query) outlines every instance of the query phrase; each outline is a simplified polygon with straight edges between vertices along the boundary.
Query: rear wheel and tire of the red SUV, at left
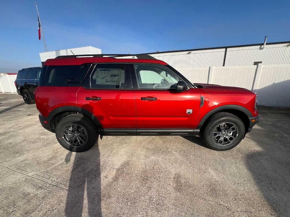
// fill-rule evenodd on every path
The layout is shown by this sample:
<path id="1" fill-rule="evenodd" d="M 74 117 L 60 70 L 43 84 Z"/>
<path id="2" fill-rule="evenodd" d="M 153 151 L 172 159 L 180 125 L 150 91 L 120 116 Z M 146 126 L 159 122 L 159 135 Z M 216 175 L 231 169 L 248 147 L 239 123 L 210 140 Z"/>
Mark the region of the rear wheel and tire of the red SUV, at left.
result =
<path id="1" fill-rule="evenodd" d="M 84 114 L 70 114 L 61 119 L 55 135 L 61 146 L 72 152 L 87 151 L 98 139 L 95 124 Z"/>

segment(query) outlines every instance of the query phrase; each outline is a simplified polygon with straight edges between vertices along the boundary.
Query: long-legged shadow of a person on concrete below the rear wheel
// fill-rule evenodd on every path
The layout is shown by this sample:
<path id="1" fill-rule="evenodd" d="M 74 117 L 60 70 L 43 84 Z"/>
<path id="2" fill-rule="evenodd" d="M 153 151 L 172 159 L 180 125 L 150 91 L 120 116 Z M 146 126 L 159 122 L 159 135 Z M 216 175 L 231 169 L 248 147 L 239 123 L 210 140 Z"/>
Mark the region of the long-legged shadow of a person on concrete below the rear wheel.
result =
<path id="1" fill-rule="evenodd" d="M 66 162 L 70 161 L 71 154 L 72 152 L 67 153 Z M 66 216 L 82 216 L 85 193 L 87 193 L 88 216 L 101 216 L 101 171 L 98 140 L 90 150 L 75 154 L 66 197 Z"/>

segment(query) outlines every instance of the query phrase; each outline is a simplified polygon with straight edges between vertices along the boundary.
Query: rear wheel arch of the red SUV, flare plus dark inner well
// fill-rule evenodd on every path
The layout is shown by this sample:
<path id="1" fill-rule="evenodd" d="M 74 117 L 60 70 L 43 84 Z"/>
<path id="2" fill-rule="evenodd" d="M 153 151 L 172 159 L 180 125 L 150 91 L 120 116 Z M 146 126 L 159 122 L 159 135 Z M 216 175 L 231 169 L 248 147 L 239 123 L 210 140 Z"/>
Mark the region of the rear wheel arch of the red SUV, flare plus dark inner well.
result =
<path id="1" fill-rule="evenodd" d="M 55 132 L 56 124 L 62 118 L 66 117 L 67 115 L 70 115 L 70 114 L 78 114 L 78 113 L 84 114 L 87 117 L 89 117 L 94 122 L 97 129 L 101 128 L 101 124 L 98 121 L 98 119 L 96 118 L 96 116 L 93 115 L 87 109 L 81 108 L 78 106 L 61 106 L 61 107 L 53 109 L 50 112 L 50 114 L 47 116 L 48 118 L 50 118 L 50 128 L 51 128 L 52 132 Z"/>

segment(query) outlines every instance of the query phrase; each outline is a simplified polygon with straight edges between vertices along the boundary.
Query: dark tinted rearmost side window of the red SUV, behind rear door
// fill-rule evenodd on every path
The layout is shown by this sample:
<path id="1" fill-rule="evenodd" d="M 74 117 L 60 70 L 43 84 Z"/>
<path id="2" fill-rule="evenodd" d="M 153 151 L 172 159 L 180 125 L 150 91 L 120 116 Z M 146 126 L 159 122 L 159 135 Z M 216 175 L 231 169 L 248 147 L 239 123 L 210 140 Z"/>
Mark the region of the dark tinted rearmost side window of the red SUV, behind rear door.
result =
<path id="1" fill-rule="evenodd" d="M 81 86 L 91 64 L 48 66 L 44 86 Z"/>

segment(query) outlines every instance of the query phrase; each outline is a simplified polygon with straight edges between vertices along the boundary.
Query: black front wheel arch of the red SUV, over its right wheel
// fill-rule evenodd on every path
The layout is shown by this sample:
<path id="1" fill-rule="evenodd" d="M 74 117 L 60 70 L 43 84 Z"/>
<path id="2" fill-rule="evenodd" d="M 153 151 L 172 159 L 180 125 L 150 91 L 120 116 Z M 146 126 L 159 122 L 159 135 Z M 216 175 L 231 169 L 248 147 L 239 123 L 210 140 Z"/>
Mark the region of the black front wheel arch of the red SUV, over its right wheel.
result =
<path id="1" fill-rule="evenodd" d="M 249 117 L 252 117 L 252 113 L 245 107 L 240 105 L 222 105 L 217 108 L 214 108 L 210 110 L 206 115 L 203 116 L 203 118 L 200 120 L 197 129 L 202 129 L 205 125 L 206 121 L 214 114 L 218 112 L 228 112 L 231 114 L 234 114 L 235 116 L 239 117 L 244 125 L 245 130 L 249 129 L 250 123 L 249 123 Z"/>

